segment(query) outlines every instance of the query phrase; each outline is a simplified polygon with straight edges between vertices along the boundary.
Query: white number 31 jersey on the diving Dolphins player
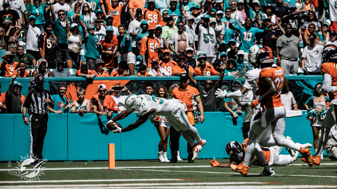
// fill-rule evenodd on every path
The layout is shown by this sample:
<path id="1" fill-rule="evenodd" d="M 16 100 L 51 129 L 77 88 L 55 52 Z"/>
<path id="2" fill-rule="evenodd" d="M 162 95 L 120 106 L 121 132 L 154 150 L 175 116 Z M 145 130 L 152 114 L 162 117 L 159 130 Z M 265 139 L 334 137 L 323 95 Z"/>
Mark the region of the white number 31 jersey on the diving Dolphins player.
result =
<path id="1" fill-rule="evenodd" d="M 152 97 L 150 95 L 138 95 L 142 98 L 142 104 L 139 109 L 139 114 L 141 116 L 146 115 L 152 109 L 156 109 L 153 115 L 161 115 L 161 116 L 178 116 L 181 110 L 181 103 L 177 99 L 163 99 L 159 97 Z M 183 110 L 185 111 L 185 110 Z"/>

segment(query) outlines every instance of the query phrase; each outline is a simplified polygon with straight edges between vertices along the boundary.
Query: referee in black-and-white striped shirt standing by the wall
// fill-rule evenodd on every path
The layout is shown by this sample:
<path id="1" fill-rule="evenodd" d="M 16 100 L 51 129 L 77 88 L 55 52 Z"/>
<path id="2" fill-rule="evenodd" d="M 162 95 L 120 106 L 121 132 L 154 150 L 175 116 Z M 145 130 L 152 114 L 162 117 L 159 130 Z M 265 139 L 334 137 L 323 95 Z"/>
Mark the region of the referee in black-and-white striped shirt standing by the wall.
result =
<path id="1" fill-rule="evenodd" d="M 47 133 L 48 112 L 47 106 L 54 108 L 54 103 L 50 92 L 43 88 L 43 75 L 35 76 L 35 86 L 27 93 L 25 102 L 22 108 L 22 117 L 26 125 L 28 125 L 28 118 L 26 111 L 29 113 L 30 126 L 30 166 L 38 164 L 42 158 L 42 148 L 45 134 Z M 40 159 L 40 161 L 35 161 Z M 43 166 L 43 164 L 41 165 Z"/>

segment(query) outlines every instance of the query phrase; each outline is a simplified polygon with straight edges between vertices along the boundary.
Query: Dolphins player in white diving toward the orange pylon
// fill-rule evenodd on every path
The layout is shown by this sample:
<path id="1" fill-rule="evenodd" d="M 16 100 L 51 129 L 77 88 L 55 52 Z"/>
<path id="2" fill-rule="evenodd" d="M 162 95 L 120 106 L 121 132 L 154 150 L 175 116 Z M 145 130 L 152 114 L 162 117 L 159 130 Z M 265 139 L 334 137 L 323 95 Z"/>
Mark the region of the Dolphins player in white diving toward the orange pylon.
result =
<path id="1" fill-rule="evenodd" d="M 198 153 L 206 144 L 206 140 L 202 140 L 198 134 L 198 130 L 188 122 L 188 118 L 185 114 L 186 105 L 177 99 L 163 99 L 158 97 L 152 97 L 150 95 L 129 95 L 125 100 L 125 106 L 127 110 L 122 111 L 111 121 L 118 121 L 130 115 L 130 113 L 138 113 L 141 115 L 136 122 L 131 123 L 125 128 L 116 126 L 116 130 L 112 130 L 113 133 L 122 133 L 133 130 L 148 120 L 150 116 L 160 115 L 165 116 L 168 122 L 170 122 L 174 128 L 181 133 L 184 139 L 193 147 L 192 160 L 196 159 Z M 107 123 L 107 124 L 108 124 Z M 106 126 L 105 126 L 106 127 Z M 194 142 L 194 139 L 197 143 Z"/>

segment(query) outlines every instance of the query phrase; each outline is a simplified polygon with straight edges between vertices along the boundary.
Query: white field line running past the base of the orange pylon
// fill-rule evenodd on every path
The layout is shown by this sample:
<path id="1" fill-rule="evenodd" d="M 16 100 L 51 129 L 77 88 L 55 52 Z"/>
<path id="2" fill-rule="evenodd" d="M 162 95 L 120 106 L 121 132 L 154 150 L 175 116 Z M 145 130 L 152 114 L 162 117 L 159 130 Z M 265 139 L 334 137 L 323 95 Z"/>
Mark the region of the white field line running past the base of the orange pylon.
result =
<path id="1" fill-rule="evenodd" d="M 306 163 L 298 163 L 298 164 L 289 164 L 287 166 L 300 166 L 307 165 Z M 337 163 L 321 163 L 320 165 L 337 165 Z M 211 167 L 211 165 L 171 165 L 171 166 L 128 166 L 128 167 L 116 167 L 116 169 L 147 169 L 147 168 L 200 168 L 200 167 Z M 63 168 L 43 168 L 43 171 L 47 170 L 84 170 L 84 169 L 108 169 L 108 167 L 63 167 Z M 26 168 L 25 170 L 33 170 L 33 168 Z M 0 169 L 0 171 L 18 171 L 17 168 L 10 169 Z"/>

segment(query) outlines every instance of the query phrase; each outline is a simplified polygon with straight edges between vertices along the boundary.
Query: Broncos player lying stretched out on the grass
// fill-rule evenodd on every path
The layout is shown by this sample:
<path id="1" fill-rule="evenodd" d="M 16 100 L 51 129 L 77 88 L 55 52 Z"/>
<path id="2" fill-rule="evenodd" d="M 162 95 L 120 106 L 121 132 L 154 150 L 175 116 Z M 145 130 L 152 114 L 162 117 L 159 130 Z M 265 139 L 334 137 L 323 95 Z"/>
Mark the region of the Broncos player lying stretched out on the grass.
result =
<path id="1" fill-rule="evenodd" d="M 231 141 L 227 143 L 226 145 L 226 153 L 229 155 L 229 161 L 231 162 L 230 164 L 227 163 L 219 163 L 215 160 L 211 160 L 210 164 L 212 167 L 230 167 L 231 164 L 238 165 L 242 162 L 243 157 L 245 155 L 246 147 L 248 143 L 248 138 L 245 139 L 241 145 L 237 141 Z M 306 144 L 299 144 L 303 148 L 311 148 L 312 145 L 309 143 Z M 267 160 L 269 165 L 279 165 L 279 166 L 284 166 L 292 163 L 293 161 L 297 160 L 298 152 L 295 153 L 294 156 L 291 154 L 288 155 L 280 155 L 281 150 L 283 147 L 280 146 L 272 146 L 272 147 L 262 147 L 260 148 L 263 151 L 263 154 L 265 156 L 265 159 Z M 249 161 L 249 166 L 251 165 L 258 165 L 261 166 L 261 162 L 256 161 L 257 158 L 253 155 Z"/>

